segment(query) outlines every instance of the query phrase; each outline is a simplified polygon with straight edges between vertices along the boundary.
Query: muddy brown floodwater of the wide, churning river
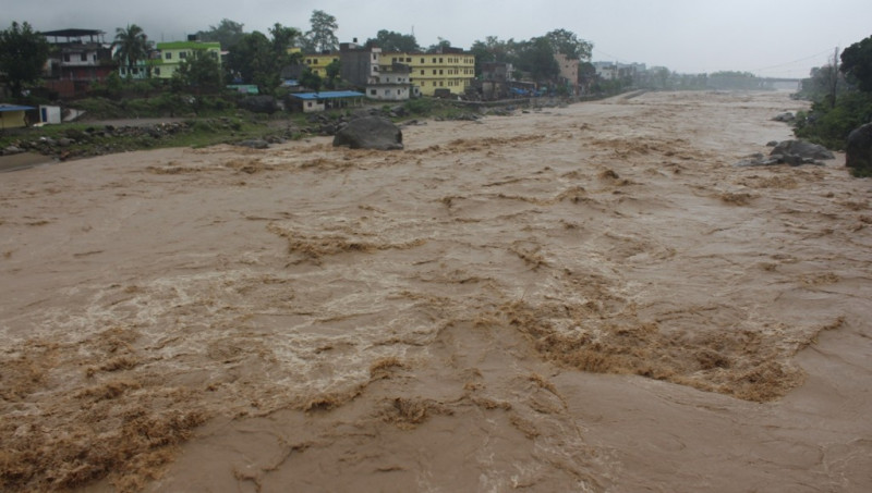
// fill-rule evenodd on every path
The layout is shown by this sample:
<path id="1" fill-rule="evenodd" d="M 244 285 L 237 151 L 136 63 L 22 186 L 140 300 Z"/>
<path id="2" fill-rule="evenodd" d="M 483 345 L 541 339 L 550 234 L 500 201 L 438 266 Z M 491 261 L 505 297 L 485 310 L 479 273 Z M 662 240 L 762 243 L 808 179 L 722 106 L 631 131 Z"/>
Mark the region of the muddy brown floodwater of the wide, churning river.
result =
<path id="1" fill-rule="evenodd" d="M 4 489 L 869 490 L 872 189 L 732 165 L 797 104 L 4 174 Z"/>

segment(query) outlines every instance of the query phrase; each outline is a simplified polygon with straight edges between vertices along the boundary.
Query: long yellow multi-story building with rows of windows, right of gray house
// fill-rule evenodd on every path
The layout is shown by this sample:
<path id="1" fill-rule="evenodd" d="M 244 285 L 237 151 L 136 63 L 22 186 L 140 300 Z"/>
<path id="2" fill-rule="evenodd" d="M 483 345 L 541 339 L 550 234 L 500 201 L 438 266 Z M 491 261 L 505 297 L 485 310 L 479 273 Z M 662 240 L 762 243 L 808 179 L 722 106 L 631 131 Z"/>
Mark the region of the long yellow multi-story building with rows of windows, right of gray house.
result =
<path id="1" fill-rule="evenodd" d="M 475 56 L 459 49 L 444 53 L 382 53 L 378 63 L 390 66 L 404 63 L 412 67 L 412 85 L 424 96 L 434 96 L 437 89 L 462 95 L 475 78 Z"/>

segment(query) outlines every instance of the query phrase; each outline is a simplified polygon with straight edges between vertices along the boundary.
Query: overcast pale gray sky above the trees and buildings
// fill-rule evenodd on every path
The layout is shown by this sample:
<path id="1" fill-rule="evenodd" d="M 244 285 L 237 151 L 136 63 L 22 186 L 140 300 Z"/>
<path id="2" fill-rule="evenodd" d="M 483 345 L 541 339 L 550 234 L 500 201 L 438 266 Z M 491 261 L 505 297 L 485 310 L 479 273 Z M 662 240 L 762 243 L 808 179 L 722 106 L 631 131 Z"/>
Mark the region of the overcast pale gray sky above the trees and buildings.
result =
<path id="1" fill-rule="evenodd" d="M 469 49 L 486 36 L 530 39 L 564 28 L 594 44 L 593 60 L 665 65 L 683 73 L 739 70 L 803 77 L 836 47 L 872 36 L 870 0 L 0 0 L 0 28 L 38 30 L 138 24 L 154 40 L 180 40 L 221 19 L 308 30 L 313 10 L 337 19 L 340 41 L 379 29 Z"/>

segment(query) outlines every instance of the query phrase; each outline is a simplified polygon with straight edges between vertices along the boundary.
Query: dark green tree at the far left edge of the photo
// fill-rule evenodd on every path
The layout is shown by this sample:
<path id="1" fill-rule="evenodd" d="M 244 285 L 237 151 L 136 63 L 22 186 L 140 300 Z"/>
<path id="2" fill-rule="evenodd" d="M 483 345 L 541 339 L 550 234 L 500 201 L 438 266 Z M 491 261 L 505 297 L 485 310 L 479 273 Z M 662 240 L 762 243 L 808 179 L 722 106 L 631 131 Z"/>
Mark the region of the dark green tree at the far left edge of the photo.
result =
<path id="1" fill-rule="evenodd" d="M 48 51 L 46 38 L 26 22 L 13 22 L 9 29 L 0 32 L 0 72 L 7 74 L 13 98 L 21 97 L 26 84 L 39 81 Z"/>

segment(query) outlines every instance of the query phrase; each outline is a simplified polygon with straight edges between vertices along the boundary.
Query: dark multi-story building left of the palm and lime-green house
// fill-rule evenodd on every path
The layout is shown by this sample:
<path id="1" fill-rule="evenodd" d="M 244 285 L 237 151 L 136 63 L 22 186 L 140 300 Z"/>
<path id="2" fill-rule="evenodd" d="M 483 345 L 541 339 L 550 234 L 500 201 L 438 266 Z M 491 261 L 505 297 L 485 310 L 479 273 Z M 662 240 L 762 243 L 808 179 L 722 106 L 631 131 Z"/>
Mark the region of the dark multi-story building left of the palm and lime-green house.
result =
<path id="1" fill-rule="evenodd" d="M 44 32 L 43 36 L 51 46 L 46 63 L 46 86 L 60 96 L 72 97 L 112 73 L 116 63 L 105 35 L 97 29 Z"/>

